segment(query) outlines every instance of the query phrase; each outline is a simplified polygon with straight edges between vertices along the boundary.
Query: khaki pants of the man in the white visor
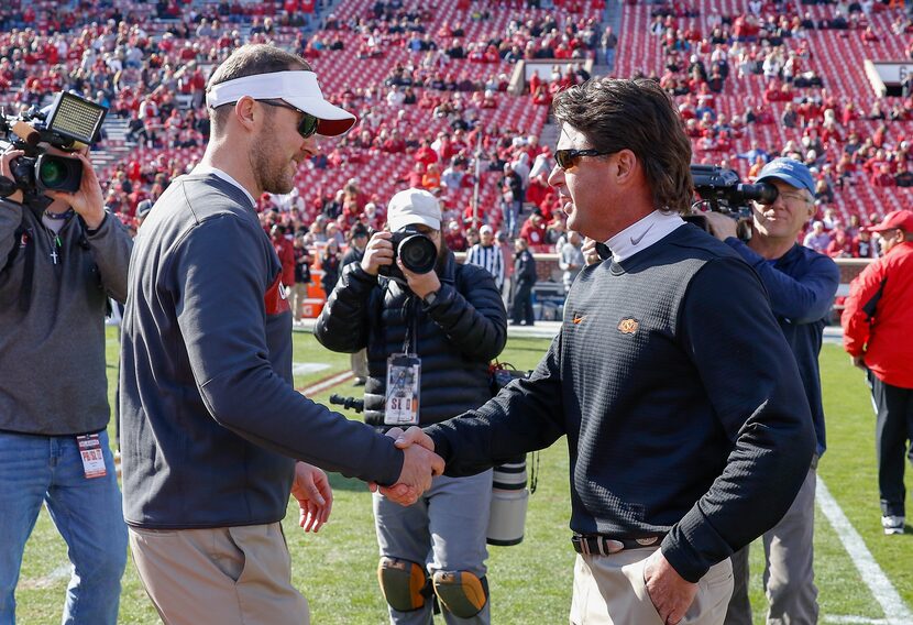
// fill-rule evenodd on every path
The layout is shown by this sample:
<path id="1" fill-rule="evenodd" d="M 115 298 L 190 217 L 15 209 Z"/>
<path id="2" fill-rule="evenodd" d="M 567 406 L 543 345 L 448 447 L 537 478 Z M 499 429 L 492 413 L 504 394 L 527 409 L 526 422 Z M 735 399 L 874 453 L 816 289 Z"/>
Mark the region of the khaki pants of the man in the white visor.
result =
<path id="1" fill-rule="evenodd" d="M 308 625 L 282 526 L 130 528 L 140 579 L 166 625 Z"/>

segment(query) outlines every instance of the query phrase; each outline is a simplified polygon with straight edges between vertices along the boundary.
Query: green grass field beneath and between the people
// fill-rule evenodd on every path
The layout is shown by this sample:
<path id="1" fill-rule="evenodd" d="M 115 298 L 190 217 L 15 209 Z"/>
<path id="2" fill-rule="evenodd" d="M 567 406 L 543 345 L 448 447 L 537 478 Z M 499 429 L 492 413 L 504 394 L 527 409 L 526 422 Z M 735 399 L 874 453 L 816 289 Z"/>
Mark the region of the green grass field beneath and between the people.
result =
<path id="1" fill-rule="evenodd" d="M 532 368 L 548 347 L 547 340 L 512 339 L 502 357 L 517 368 Z M 108 371 L 113 397 L 118 342 L 108 331 Z M 295 335 L 295 361 L 326 363 L 328 369 L 296 376 L 298 387 L 345 371 L 349 357 L 323 350 L 308 333 Z M 849 365 L 837 346 L 822 353 L 829 449 L 820 474 L 876 561 L 908 606 L 913 606 L 913 535 L 886 537 L 881 533 L 873 448 L 875 417 L 862 374 Z M 330 393 L 358 393 L 344 384 Z M 112 427 L 113 429 L 113 427 Z M 112 432 L 113 434 L 113 432 Z M 371 497 L 364 484 L 332 475 L 333 514 L 317 535 L 304 534 L 290 509 L 285 520 L 293 553 L 294 581 L 310 602 L 318 625 L 374 625 L 386 622 L 377 589 L 377 552 Z M 574 552 L 570 545 L 568 451 L 563 441 L 541 453 L 539 489 L 529 500 L 526 537 L 515 547 L 492 547 L 488 580 L 492 619 L 497 624 L 566 623 L 571 599 Z M 913 508 L 913 506 L 911 506 Z M 882 618 L 881 608 L 854 567 L 837 534 L 818 513 L 815 531 L 816 579 L 823 622 L 842 617 Z M 755 622 L 763 622 L 761 592 L 762 550 L 752 549 Z M 16 592 L 19 623 L 59 621 L 69 577 L 66 547 L 45 512 L 25 550 Z M 156 623 L 157 615 L 139 582 L 132 563 L 123 578 L 121 623 Z M 860 621 L 862 622 L 862 621 Z"/>

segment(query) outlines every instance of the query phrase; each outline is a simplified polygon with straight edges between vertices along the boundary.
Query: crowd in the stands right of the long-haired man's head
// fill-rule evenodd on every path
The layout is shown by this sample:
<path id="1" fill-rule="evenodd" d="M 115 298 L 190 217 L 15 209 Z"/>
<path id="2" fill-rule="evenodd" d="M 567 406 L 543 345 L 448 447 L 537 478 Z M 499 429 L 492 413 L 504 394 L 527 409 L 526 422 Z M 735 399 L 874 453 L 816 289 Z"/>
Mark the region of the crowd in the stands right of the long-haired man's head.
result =
<path id="1" fill-rule="evenodd" d="M 834 257 L 872 256 L 877 245 L 866 227 L 891 208 L 868 215 L 872 207 L 846 210 L 836 200 L 868 187 L 881 199 L 893 194 L 910 201 L 904 189 L 913 185 L 913 79 L 900 97 L 839 89 L 835 76 L 822 73 L 815 37 L 837 30 L 870 45 L 901 36 L 913 22 L 898 2 L 815 4 L 755 0 L 732 14 L 702 10 L 701 2 L 660 6 L 651 11 L 647 36 L 654 37 L 661 67 L 632 69 L 673 96 L 695 162 L 734 168 L 748 179 L 777 156 L 804 162 L 815 175 L 818 205 L 806 244 Z M 748 86 L 761 97 L 746 98 Z M 758 140 L 778 135 L 782 143 Z"/>

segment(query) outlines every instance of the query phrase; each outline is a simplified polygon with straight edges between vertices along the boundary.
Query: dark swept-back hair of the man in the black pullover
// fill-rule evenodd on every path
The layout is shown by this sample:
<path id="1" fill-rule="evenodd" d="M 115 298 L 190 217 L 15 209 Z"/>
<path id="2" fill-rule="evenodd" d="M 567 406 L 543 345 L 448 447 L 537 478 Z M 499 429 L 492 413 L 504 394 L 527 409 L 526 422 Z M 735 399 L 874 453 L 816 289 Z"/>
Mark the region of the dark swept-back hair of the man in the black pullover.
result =
<path id="1" fill-rule="evenodd" d="M 656 208 L 690 210 L 691 141 L 671 98 L 656 81 L 587 80 L 556 95 L 554 117 L 583 133 L 595 150 L 634 152 Z"/>

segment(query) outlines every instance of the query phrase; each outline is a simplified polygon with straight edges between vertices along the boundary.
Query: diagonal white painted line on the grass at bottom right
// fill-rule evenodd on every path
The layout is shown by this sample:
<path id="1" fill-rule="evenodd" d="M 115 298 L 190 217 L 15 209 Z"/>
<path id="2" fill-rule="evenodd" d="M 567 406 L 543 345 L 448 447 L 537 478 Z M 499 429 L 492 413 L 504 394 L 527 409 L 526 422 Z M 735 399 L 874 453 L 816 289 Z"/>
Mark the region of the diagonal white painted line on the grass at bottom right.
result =
<path id="1" fill-rule="evenodd" d="M 909 625 L 910 623 L 913 623 L 913 613 L 910 612 L 906 604 L 898 594 L 898 591 L 894 590 L 894 586 L 891 584 L 891 580 L 888 579 L 888 575 L 884 574 L 884 571 L 882 571 L 881 567 L 878 566 L 878 562 L 875 561 L 875 558 L 872 557 L 871 551 L 869 551 L 869 548 L 866 547 L 866 542 L 862 540 L 862 537 L 859 536 L 859 533 L 856 531 L 856 528 L 854 528 L 849 523 L 849 519 L 844 514 L 844 511 L 840 509 L 840 506 L 831 494 L 831 491 L 827 490 L 827 486 L 824 484 L 824 480 L 822 480 L 821 476 L 817 479 L 817 493 L 815 494 L 815 500 L 821 506 L 824 516 L 827 517 L 827 520 L 834 528 L 834 531 L 836 531 L 837 536 L 840 538 L 840 542 L 844 544 L 844 549 L 846 549 L 847 553 L 849 553 L 849 559 L 853 560 L 853 563 L 859 571 L 862 582 L 865 582 L 865 584 L 869 588 L 869 591 L 872 593 L 872 596 L 875 596 L 875 600 L 881 606 L 881 610 L 886 615 L 884 619 L 868 621 L 843 621 L 843 618 L 854 617 L 826 616 L 826 622 L 886 623 L 897 625 Z M 888 539 L 890 540 L 890 538 Z M 842 621 L 834 621 L 835 618 L 842 618 Z"/>

